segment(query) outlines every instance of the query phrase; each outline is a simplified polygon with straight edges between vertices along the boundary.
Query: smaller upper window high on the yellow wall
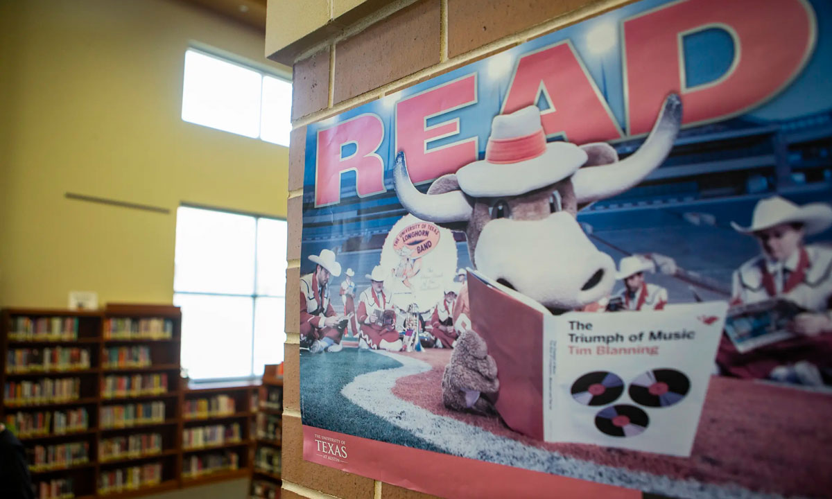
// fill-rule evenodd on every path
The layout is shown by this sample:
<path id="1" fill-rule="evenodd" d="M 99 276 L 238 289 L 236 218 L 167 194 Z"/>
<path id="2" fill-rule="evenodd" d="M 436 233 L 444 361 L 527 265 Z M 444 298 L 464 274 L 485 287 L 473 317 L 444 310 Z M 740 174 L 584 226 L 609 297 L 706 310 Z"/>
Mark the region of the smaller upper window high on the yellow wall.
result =
<path id="1" fill-rule="evenodd" d="M 292 84 L 204 52 L 185 52 L 182 120 L 289 146 Z"/>

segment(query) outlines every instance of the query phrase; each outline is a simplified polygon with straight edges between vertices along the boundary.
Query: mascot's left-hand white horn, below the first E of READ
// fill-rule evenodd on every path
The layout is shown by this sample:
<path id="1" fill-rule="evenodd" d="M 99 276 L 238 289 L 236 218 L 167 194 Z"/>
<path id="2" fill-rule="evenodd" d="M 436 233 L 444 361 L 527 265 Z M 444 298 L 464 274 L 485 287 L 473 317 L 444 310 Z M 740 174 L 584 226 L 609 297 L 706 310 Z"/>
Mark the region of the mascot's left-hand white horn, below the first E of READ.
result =
<path id="1" fill-rule="evenodd" d="M 410 181 L 408 167 L 404 164 L 403 151 L 399 151 L 396 155 L 393 185 L 404 209 L 422 220 L 443 224 L 466 222 L 471 218 L 473 207 L 468 203 L 462 190 L 432 195 L 419 192 Z"/>

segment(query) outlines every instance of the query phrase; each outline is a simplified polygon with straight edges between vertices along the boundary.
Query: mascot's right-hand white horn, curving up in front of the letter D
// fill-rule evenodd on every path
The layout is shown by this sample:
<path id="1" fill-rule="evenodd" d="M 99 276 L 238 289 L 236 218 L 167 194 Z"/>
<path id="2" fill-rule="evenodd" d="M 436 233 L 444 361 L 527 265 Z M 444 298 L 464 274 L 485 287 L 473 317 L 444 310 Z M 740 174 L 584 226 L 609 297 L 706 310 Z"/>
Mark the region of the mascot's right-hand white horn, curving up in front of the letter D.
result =
<path id="1" fill-rule="evenodd" d="M 577 202 L 585 204 L 602 200 L 641 182 L 670 154 L 680 125 L 681 99 L 678 95 L 671 94 L 665 99 L 653 130 L 638 151 L 622 161 L 604 166 L 587 166 L 572 175 Z"/>

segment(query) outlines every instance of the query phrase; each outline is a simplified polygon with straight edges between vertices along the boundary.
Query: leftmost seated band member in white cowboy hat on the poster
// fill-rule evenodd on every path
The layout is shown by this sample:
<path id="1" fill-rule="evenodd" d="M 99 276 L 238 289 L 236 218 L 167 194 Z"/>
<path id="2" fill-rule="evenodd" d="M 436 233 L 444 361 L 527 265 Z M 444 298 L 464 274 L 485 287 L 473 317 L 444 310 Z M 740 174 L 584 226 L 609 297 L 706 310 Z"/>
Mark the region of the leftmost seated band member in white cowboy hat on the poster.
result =
<path id="1" fill-rule="evenodd" d="M 341 264 L 331 250 L 310 254 L 314 272 L 300 278 L 300 338 L 311 353 L 339 352 L 346 318 L 335 314 L 329 303 L 329 277 L 341 274 Z"/>

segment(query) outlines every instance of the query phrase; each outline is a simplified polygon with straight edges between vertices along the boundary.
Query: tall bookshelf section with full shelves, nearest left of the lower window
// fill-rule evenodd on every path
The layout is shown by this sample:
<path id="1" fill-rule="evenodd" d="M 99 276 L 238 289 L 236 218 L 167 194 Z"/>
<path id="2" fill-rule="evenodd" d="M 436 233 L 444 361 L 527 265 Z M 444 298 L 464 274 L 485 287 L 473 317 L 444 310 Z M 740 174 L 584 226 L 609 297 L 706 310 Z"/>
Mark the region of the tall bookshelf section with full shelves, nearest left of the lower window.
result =
<path id="1" fill-rule="evenodd" d="M 107 304 L 101 338 L 97 496 L 178 487 L 180 309 Z"/>

